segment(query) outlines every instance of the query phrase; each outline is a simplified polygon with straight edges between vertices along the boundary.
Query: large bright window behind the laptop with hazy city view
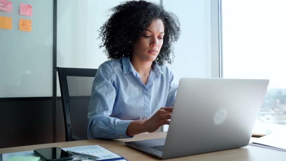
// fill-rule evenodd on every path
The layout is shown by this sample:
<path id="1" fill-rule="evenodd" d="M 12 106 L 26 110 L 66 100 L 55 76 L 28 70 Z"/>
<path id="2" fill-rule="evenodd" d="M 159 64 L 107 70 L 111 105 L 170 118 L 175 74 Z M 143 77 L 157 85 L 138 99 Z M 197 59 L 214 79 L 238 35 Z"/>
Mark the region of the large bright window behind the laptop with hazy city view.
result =
<path id="1" fill-rule="evenodd" d="M 286 124 L 286 0 L 221 0 L 223 78 L 269 79 L 258 120 Z"/>

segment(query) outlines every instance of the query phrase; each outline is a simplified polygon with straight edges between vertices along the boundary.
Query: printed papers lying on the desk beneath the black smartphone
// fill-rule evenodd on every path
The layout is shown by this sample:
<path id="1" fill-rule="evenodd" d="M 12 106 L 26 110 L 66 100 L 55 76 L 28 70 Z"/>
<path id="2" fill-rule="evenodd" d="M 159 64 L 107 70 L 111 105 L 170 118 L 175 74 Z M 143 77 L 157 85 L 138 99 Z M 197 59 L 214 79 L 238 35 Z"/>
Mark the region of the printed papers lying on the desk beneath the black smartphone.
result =
<path id="1" fill-rule="evenodd" d="M 127 161 L 125 158 L 122 156 L 113 153 L 112 151 L 100 146 L 100 145 L 87 145 L 87 146 L 75 146 L 75 147 L 65 147 L 62 148 L 63 150 L 69 150 L 69 151 L 75 151 L 79 153 L 85 153 L 85 154 L 90 154 L 90 155 L 95 155 L 99 159 L 96 161 Z M 23 151 L 23 152 L 14 152 L 14 153 L 3 153 L 0 156 L 1 161 L 6 161 L 7 159 L 14 157 L 14 156 L 33 156 L 34 152 L 33 151 Z M 75 157 L 73 160 L 79 160 L 79 158 Z"/>

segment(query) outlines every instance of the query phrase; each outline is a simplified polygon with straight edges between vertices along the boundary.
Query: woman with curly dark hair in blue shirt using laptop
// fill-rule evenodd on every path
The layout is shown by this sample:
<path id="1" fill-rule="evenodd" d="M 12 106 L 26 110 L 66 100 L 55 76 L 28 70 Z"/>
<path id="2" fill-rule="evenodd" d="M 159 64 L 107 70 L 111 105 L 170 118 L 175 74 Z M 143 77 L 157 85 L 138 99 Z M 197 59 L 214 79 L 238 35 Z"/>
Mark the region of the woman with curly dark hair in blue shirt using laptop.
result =
<path id="1" fill-rule="evenodd" d="M 177 17 L 159 5 L 127 1 L 100 28 L 111 59 L 98 67 L 88 110 L 88 137 L 129 138 L 169 124 L 177 83 L 170 69 Z M 174 56 L 173 56 L 174 57 Z"/>

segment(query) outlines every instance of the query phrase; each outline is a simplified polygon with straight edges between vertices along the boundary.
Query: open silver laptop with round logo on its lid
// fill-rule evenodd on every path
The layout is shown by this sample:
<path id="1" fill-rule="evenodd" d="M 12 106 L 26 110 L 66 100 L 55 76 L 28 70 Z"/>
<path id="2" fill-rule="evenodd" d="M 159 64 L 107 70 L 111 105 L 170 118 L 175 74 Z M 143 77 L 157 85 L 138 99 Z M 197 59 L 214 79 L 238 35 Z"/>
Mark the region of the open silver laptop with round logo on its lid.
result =
<path id="1" fill-rule="evenodd" d="M 167 137 L 125 144 L 160 159 L 246 146 L 268 83 L 182 78 Z"/>

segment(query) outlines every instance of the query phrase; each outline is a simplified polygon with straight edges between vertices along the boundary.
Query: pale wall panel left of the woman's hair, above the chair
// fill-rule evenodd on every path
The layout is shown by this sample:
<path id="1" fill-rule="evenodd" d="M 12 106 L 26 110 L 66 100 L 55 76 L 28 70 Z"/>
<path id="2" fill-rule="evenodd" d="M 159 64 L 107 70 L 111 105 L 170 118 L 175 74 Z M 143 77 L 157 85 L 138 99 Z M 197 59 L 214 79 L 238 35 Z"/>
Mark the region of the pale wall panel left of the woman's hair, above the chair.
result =
<path id="1" fill-rule="evenodd" d="M 57 66 L 98 68 L 107 60 L 98 30 L 123 0 L 58 0 Z M 149 0 L 159 4 L 159 0 Z"/>

